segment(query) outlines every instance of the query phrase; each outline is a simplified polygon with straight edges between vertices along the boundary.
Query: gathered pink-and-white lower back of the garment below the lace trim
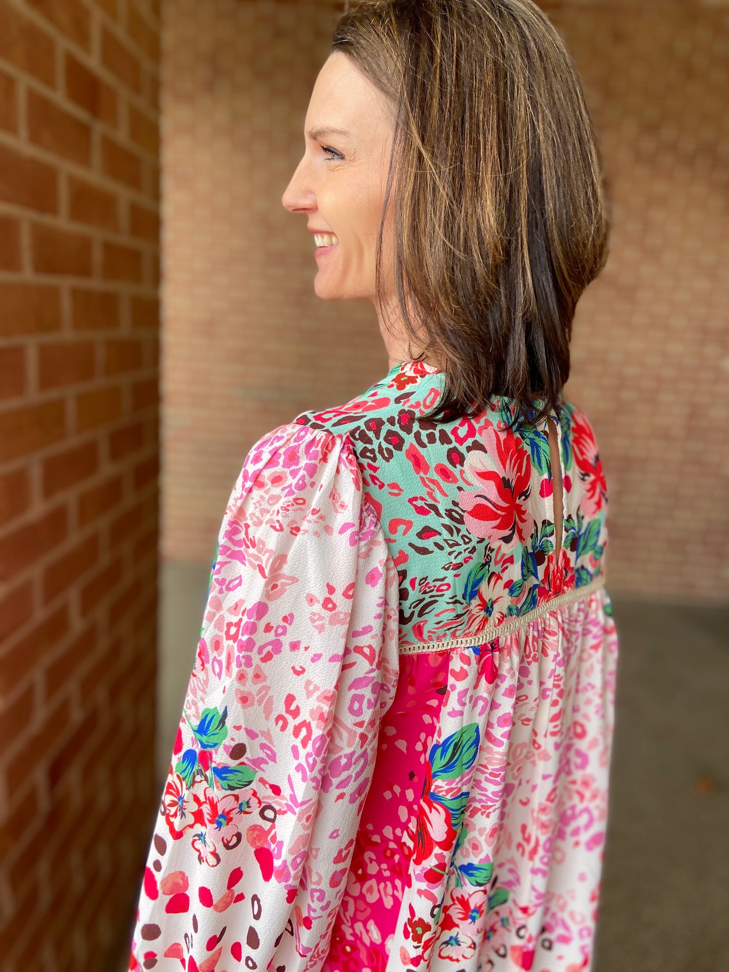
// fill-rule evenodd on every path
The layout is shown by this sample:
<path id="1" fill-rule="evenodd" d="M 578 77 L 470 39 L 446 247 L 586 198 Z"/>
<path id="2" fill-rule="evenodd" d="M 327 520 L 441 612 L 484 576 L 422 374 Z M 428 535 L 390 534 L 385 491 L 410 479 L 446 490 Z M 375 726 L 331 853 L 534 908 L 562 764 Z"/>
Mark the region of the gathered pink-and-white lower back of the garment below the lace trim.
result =
<path id="1" fill-rule="evenodd" d="M 596 592 L 480 648 L 401 656 L 326 972 L 588 968 L 617 657 L 608 610 Z M 438 780 L 438 746 L 459 734 L 477 737 L 474 758 Z M 459 835 L 443 803 L 464 793 Z"/>

